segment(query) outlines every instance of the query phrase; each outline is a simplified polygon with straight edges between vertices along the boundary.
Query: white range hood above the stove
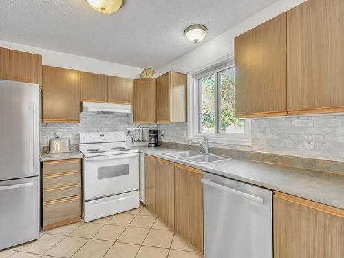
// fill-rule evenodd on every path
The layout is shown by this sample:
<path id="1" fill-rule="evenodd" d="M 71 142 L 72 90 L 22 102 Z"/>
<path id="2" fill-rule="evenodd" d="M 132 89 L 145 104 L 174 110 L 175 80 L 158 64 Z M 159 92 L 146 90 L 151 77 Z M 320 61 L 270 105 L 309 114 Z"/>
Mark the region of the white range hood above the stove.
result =
<path id="1" fill-rule="evenodd" d="M 128 104 L 112 104 L 112 103 L 97 103 L 83 101 L 83 113 L 93 114 L 114 114 L 125 113 L 131 114 L 131 105 Z"/>

